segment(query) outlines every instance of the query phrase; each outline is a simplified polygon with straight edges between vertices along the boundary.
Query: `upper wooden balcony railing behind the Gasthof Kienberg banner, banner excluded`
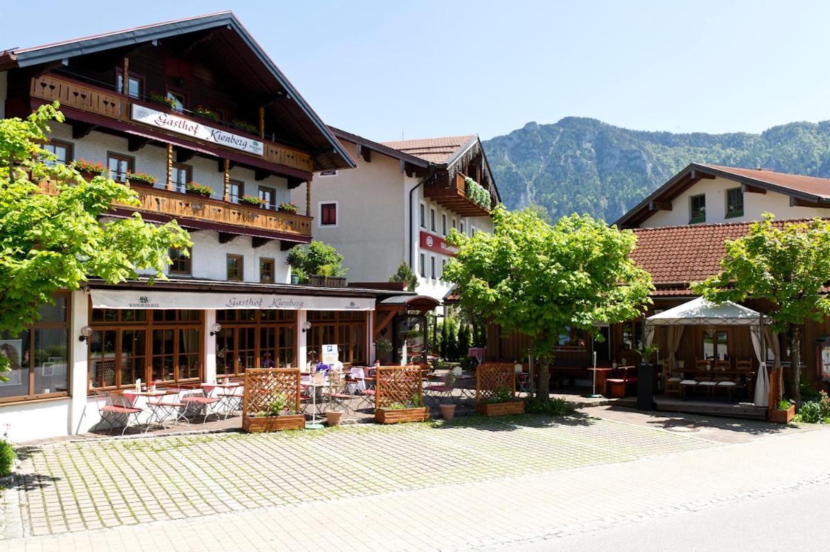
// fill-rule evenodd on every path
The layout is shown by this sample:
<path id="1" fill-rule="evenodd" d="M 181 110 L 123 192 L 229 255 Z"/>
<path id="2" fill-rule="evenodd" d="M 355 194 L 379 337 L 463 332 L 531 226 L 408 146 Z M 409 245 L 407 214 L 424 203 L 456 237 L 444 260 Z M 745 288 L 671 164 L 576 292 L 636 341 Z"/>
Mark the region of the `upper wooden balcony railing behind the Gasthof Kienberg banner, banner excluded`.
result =
<path id="1" fill-rule="evenodd" d="M 264 162 L 283 165 L 291 167 L 304 172 L 312 172 L 314 165 L 311 161 L 310 155 L 300 152 L 293 148 L 286 148 L 280 144 L 270 142 L 261 136 L 246 133 L 237 128 L 222 127 L 210 119 L 201 119 L 198 117 L 190 117 L 186 114 L 181 114 L 168 109 L 163 104 L 153 104 L 144 102 L 138 99 L 129 98 L 122 94 L 116 94 L 114 90 L 106 90 L 105 88 L 87 85 L 75 80 L 65 79 L 63 77 L 56 77 L 54 75 L 41 75 L 32 79 L 32 86 L 30 94 L 34 99 L 41 99 L 46 102 L 59 101 L 61 107 L 77 109 L 87 114 L 93 114 L 105 119 L 117 121 L 134 126 L 136 129 L 152 128 L 154 132 L 168 134 L 171 138 L 186 138 L 189 141 L 194 141 L 198 144 L 206 144 L 211 148 L 216 148 L 219 151 L 227 151 L 233 154 L 242 154 L 250 157 L 255 157 Z M 138 123 L 131 119 L 132 104 L 141 105 L 149 109 L 155 109 L 167 114 L 174 115 L 182 119 L 188 119 L 193 123 L 207 125 L 213 128 L 219 128 L 224 132 L 236 134 L 243 138 L 251 138 L 263 143 L 262 155 L 255 155 L 253 153 L 244 153 L 238 149 L 225 148 L 214 142 L 207 142 L 193 136 L 185 136 L 176 133 L 164 133 L 159 131 L 159 128 L 150 127 L 148 125 Z"/>

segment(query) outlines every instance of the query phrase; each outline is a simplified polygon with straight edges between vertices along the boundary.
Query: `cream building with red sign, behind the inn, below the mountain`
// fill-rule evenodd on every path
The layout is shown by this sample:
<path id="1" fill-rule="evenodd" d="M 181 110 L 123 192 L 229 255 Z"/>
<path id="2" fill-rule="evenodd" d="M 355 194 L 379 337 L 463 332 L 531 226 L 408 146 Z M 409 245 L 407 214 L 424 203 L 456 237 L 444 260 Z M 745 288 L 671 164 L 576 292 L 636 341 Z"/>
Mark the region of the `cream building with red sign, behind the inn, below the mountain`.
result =
<path id="1" fill-rule="evenodd" d="M 418 276 L 417 293 L 442 300 L 442 281 L 454 253 L 444 238 L 491 232 L 490 210 L 500 201 L 476 135 L 376 143 L 331 129 L 357 168 L 320 172 L 310 192 L 315 240 L 344 256 L 351 282 L 386 282 L 406 262 Z M 476 203 L 466 177 L 484 188 Z M 317 187 L 320 186 L 320 187 Z M 291 192 L 302 205 L 307 186 Z"/>

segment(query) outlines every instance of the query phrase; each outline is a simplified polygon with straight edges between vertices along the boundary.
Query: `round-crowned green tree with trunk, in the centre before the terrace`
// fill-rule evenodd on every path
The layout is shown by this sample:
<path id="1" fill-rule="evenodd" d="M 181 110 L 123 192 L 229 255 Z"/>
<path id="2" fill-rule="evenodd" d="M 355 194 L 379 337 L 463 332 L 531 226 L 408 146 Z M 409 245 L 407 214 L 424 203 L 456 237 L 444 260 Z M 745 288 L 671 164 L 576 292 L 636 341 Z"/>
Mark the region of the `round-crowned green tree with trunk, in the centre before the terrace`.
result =
<path id="1" fill-rule="evenodd" d="M 548 225 L 532 211 L 498 206 L 493 224 L 493 234 L 447 237 L 459 251 L 444 279 L 456 283 L 462 307 L 534 341 L 537 389 L 546 400 L 559 334 L 578 327 L 595 337 L 594 322 L 641 316 L 652 278 L 629 258 L 637 242 L 631 231 L 588 215 Z"/>

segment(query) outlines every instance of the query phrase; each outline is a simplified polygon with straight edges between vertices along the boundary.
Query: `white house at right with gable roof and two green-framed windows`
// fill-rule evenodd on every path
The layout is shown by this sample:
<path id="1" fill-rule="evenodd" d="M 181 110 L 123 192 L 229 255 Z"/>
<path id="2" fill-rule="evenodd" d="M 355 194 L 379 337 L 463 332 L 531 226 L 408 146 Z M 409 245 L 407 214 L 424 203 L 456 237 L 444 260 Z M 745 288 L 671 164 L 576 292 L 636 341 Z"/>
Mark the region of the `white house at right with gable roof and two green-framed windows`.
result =
<path id="1" fill-rule="evenodd" d="M 651 228 L 830 216 L 830 178 L 691 163 L 617 220 Z"/>

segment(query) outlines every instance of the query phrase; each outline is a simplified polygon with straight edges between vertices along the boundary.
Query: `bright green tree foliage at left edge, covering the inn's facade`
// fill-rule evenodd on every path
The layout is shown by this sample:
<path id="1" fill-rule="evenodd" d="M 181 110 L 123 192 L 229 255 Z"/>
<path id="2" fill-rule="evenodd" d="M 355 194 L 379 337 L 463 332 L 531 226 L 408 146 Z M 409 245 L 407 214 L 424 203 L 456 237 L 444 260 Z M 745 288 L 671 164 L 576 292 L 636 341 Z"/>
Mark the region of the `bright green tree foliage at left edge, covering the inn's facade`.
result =
<path id="1" fill-rule="evenodd" d="M 153 225 L 138 213 L 100 220 L 115 202 L 139 205 L 138 196 L 109 177 L 87 182 L 51 162 L 42 144 L 49 121 L 64 120 L 58 108 L 0 120 L 0 331 L 21 332 L 56 291 L 76 290 L 90 276 L 115 284 L 149 270 L 164 278 L 169 249 L 191 245 L 175 221 Z M 41 193 L 38 182 L 51 182 L 56 193 Z"/>

